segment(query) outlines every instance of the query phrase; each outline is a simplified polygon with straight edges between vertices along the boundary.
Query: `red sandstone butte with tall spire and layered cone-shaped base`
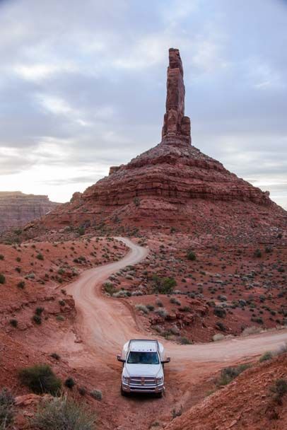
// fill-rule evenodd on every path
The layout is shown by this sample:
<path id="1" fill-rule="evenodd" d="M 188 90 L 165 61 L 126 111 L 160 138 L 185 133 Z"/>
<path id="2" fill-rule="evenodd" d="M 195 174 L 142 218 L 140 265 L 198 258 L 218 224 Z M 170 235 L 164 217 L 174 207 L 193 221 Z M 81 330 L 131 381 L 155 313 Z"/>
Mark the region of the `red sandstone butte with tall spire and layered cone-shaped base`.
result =
<path id="1" fill-rule="evenodd" d="M 206 124 L 207 125 L 207 124 Z M 45 216 L 46 228 L 110 226 L 213 231 L 221 228 L 277 226 L 286 211 L 249 182 L 230 173 L 192 144 L 185 116 L 185 85 L 180 52 L 169 50 L 166 112 L 160 144 Z M 42 224 L 43 225 L 43 224 Z"/>

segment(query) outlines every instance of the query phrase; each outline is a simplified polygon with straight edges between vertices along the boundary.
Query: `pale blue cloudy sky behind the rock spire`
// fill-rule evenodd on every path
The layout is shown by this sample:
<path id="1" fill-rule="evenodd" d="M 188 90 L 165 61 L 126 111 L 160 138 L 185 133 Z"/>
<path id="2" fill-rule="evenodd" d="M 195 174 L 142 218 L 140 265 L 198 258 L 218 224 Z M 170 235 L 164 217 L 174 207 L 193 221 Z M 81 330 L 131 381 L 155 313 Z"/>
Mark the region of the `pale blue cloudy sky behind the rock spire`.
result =
<path id="1" fill-rule="evenodd" d="M 168 48 L 192 141 L 287 208 L 286 0 L 0 0 L 0 190 L 64 202 L 160 141 Z"/>

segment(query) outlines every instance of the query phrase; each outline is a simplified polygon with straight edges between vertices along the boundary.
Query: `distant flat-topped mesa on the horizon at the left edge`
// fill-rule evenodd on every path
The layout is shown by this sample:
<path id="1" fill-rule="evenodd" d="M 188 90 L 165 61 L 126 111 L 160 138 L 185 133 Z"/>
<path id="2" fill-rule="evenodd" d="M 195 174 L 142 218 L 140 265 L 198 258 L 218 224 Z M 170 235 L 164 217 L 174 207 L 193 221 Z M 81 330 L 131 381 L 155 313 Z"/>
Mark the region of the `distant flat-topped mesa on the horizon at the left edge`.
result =
<path id="1" fill-rule="evenodd" d="M 20 228 L 54 209 L 58 203 L 45 195 L 23 194 L 20 191 L 0 192 L 0 233 Z"/>

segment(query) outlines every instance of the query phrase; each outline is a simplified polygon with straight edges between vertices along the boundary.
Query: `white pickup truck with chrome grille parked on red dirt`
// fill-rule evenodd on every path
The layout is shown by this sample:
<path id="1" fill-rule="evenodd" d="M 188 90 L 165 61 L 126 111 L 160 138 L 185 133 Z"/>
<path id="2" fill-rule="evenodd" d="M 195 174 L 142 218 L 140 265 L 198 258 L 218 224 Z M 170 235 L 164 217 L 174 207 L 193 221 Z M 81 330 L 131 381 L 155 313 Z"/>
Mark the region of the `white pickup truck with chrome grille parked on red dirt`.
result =
<path id="1" fill-rule="evenodd" d="M 124 344 L 122 355 L 122 395 L 129 393 L 154 393 L 161 397 L 165 390 L 163 366 L 165 359 L 163 344 L 158 340 L 131 339 Z"/>

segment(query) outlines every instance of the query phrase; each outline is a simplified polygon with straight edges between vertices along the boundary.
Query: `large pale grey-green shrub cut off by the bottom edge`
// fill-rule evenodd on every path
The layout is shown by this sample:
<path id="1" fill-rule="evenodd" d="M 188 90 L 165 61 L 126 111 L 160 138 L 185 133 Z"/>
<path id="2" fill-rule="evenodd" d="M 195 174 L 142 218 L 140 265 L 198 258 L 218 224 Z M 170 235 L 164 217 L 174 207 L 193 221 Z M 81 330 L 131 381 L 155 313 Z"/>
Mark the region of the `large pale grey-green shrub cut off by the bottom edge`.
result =
<path id="1" fill-rule="evenodd" d="M 95 415 L 87 407 L 63 396 L 40 403 L 33 426 L 40 430 L 93 430 Z"/>

